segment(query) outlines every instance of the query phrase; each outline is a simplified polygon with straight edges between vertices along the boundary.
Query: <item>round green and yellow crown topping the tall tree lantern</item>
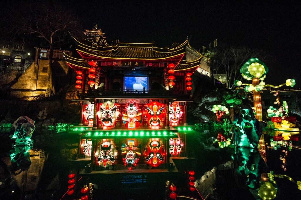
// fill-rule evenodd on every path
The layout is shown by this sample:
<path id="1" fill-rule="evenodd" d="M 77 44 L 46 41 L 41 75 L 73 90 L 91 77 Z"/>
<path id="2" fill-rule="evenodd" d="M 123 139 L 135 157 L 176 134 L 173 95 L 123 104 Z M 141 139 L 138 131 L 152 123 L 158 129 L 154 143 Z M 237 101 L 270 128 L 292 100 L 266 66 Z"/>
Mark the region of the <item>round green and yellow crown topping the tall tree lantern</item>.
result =
<path id="1" fill-rule="evenodd" d="M 252 78 L 264 79 L 265 75 L 268 72 L 268 67 L 261 62 L 258 58 L 249 59 L 241 68 L 241 75 L 247 79 L 251 80 Z"/>

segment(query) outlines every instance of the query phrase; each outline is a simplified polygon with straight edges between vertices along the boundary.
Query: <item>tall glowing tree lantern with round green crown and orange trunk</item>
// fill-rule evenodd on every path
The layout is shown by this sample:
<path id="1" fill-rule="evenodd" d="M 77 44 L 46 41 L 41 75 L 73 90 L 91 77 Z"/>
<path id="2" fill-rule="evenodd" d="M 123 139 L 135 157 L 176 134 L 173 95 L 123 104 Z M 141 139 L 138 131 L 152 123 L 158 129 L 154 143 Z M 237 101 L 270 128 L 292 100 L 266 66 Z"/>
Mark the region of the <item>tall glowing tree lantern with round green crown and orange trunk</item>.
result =
<path id="1" fill-rule="evenodd" d="M 245 92 L 253 92 L 253 102 L 256 108 L 256 119 L 262 121 L 262 106 L 260 91 L 265 87 L 279 88 L 281 86 L 293 87 L 296 85 L 294 79 L 287 79 L 285 83 L 279 86 L 267 85 L 263 80 L 268 73 L 267 66 L 257 58 L 249 59 L 241 68 L 240 73 L 244 79 L 252 80 L 252 84 L 242 83 L 240 80 L 235 80 L 235 86 L 245 85 Z M 261 82 L 259 82 L 261 80 Z"/>

